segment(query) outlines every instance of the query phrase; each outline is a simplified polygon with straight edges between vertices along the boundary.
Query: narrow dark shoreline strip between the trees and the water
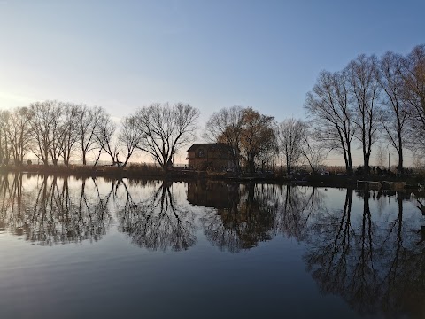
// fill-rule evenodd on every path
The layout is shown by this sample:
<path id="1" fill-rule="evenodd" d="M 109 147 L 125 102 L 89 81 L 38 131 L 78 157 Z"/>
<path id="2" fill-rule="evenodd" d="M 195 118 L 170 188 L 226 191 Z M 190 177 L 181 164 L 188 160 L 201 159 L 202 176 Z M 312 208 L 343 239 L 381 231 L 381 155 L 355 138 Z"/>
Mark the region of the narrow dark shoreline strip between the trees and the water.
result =
<path id="1" fill-rule="evenodd" d="M 424 182 L 422 175 L 282 175 L 271 172 L 257 172 L 254 175 L 234 173 L 216 173 L 207 171 L 195 171 L 187 169 L 173 169 L 163 171 L 160 167 L 89 167 L 89 166 L 44 166 L 29 165 L 22 167 L 7 166 L 0 167 L 1 174 L 21 173 L 37 175 L 60 175 L 76 177 L 106 177 L 106 178 L 130 178 L 130 179 L 160 179 L 173 181 L 188 180 L 213 180 L 228 181 L 232 183 L 291 183 L 294 185 L 305 186 L 324 186 L 324 187 L 342 187 L 358 188 L 359 182 L 366 182 L 365 187 L 383 187 L 385 183 L 403 183 L 405 189 L 420 189 Z M 374 184 L 376 183 L 376 184 Z"/>

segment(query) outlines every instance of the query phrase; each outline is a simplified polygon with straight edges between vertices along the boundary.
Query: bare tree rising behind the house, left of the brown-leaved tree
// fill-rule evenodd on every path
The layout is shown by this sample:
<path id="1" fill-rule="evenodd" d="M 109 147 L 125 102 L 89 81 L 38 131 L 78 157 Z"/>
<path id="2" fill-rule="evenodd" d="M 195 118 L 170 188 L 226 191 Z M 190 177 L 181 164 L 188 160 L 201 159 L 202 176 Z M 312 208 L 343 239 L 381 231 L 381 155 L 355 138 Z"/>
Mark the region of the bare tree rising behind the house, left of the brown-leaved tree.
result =
<path id="1" fill-rule="evenodd" d="M 243 131 L 243 108 L 232 106 L 213 113 L 206 122 L 204 138 L 213 143 L 223 143 L 232 147 L 233 165 L 240 170 L 241 136 Z"/>

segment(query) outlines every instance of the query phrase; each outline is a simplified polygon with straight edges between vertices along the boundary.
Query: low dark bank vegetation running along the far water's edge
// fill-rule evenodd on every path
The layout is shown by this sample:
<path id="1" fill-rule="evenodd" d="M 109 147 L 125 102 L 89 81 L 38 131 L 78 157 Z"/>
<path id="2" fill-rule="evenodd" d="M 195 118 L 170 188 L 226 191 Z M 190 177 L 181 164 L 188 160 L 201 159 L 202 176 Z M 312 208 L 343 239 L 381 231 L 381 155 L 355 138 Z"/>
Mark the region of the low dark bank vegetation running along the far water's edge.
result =
<path id="1" fill-rule="evenodd" d="M 199 171 L 188 169 L 187 167 L 173 167 L 164 171 L 162 167 L 151 164 L 130 163 L 127 167 L 112 166 L 83 166 L 69 165 L 57 166 L 49 165 L 24 165 L 22 167 L 0 167 L 0 173 L 15 173 L 16 175 L 43 175 L 43 176 L 74 176 L 76 178 L 111 178 L 121 180 L 128 178 L 130 180 L 163 180 L 163 181 L 224 181 L 225 183 L 291 183 L 304 186 L 321 187 L 339 187 L 339 188 L 363 188 L 369 187 L 370 183 L 378 185 L 378 188 L 385 185 L 398 185 L 398 189 L 424 189 L 425 173 L 423 171 L 408 171 L 404 175 L 394 174 L 390 170 L 377 172 L 374 170 L 370 175 L 364 175 L 361 169 L 358 169 L 355 175 L 346 175 L 344 167 L 328 167 L 332 171 L 321 171 L 321 173 L 307 172 L 299 169 L 286 174 L 284 167 L 276 167 L 274 170 L 257 171 L 255 174 L 236 173 L 236 172 L 215 172 Z M 360 182 L 359 182 L 360 181 Z"/>

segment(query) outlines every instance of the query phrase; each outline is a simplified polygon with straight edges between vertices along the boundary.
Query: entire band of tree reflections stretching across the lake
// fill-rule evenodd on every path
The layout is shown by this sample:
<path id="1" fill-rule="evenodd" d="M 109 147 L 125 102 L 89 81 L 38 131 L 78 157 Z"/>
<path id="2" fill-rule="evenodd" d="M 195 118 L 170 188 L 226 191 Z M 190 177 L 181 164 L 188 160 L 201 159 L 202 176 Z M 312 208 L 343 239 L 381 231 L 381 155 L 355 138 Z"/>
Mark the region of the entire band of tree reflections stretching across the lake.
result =
<path id="1" fill-rule="evenodd" d="M 196 214 L 175 194 L 158 181 L 0 175 L 0 231 L 41 245 L 96 241 L 113 209 L 135 245 L 181 251 L 197 244 Z M 188 183 L 187 195 L 192 206 L 214 208 L 200 211 L 199 227 L 220 250 L 296 238 L 321 292 L 363 314 L 425 317 L 425 228 L 416 203 L 406 209 L 410 193 L 347 189 L 336 210 L 323 188 L 200 181 Z"/>

